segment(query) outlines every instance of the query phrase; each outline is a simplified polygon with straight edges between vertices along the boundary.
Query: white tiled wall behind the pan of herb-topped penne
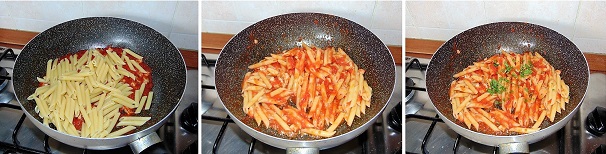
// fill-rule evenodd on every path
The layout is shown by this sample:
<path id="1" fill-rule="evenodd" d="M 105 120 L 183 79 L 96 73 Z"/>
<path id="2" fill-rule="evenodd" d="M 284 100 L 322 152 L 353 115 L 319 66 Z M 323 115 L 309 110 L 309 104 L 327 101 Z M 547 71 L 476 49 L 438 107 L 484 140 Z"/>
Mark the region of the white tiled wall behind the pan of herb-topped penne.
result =
<path id="1" fill-rule="evenodd" d="M 448 40 L 483 24 L 523 21 L 551 28 L 581 51 L 606 53 L 606 2 L 406 2 L 406 38 Z"/>

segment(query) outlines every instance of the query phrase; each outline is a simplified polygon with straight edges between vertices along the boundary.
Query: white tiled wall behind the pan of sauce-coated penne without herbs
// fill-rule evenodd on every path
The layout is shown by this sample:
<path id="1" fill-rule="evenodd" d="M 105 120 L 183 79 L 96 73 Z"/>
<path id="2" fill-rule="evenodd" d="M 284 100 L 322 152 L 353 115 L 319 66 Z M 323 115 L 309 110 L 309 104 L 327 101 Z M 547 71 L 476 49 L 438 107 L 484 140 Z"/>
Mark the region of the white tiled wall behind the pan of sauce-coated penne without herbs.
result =
<path id="1" fill-rule="evenodd" d="M 237 34 L 268 17 L 320 12 L 352 20 L 387 45 L 402 45 L 402 2 L 201 2 L 202 32 Z M 204 38 L 203 38 L 204 39 Z"/>

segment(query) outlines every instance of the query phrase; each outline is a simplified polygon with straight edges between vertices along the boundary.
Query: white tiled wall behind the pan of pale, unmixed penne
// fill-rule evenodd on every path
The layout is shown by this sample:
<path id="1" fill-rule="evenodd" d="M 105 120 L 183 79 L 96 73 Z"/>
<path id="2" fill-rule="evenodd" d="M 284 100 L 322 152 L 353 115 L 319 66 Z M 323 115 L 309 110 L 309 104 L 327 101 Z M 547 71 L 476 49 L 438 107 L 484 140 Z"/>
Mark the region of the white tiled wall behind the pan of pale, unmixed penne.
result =
<path id="1" fill-rule="evenodd" d="M 0 1 L 0 28 L 42 32 L 59 23 L 113 16 L 152 27 L 179 48 L 198 50 L 198 2 L 7 2 Z"/>

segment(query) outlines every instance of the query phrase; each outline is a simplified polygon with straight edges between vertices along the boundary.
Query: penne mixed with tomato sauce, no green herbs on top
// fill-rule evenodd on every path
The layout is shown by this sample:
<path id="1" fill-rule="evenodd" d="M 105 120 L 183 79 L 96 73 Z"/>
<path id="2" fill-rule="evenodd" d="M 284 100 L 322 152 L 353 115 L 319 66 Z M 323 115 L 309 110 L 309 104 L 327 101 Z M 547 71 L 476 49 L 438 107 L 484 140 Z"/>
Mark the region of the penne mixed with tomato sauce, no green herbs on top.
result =
<path id="1" fill-rule="evenodd" d="M 351 126 L 371 107 L 365 70 L 340 48 L 303 44 L 248 68 L 253 71 L 242 82 L 242 110 L 257 125 L 285 134 L 330 137 L 341 123 Z"/>

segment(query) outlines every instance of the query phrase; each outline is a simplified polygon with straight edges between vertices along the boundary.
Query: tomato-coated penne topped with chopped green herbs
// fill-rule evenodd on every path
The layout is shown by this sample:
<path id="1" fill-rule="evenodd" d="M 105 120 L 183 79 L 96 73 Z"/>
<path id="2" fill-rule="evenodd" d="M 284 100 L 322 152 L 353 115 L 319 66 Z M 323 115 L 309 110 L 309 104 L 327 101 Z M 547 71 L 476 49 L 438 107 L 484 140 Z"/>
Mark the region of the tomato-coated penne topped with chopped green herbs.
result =
<path id="1" fill-rule="evenodd" d="M 536 132 L 546 118 L 553 122 L 568 102 L 560 73 L 538 53 L 502 50 L 453 75 L 448 94 L 452 114 L 481 133 Z"/>

